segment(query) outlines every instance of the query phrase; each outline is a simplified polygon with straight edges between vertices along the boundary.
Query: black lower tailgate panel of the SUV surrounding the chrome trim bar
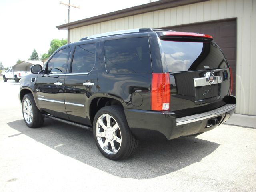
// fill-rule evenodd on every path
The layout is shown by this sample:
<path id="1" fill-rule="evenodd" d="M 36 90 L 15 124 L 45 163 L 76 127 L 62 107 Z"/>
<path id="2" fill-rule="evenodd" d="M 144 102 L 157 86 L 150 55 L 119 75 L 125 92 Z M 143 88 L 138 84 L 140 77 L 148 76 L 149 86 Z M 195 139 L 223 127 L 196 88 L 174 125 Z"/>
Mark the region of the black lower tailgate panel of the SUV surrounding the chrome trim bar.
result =
<path id="1" fill-rule="evenodd" d="M 224 98 L 230 91 L 230 78 L 224 78 L 223 73 L 229 74 L 229 69 L 214 73 L 215 76 L 222 76 L 221 83 L 195 87 L 194 78 L 202 78 L 206 72 L 211 70 L 170 73 L 170 111 L 178 112 L 177 118 L 226 104 Z"/>

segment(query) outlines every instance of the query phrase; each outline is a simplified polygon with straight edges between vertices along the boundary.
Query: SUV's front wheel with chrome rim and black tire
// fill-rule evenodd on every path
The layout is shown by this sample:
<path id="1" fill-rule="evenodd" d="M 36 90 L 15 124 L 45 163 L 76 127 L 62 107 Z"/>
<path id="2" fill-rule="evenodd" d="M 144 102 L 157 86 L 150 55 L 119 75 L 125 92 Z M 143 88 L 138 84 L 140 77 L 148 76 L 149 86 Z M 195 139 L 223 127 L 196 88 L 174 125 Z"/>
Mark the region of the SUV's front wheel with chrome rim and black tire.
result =
<path id="1" fill-rule="evenodd" d="M 26 94 L 22 99 L 22 114 L 26 125 L 30 128 L 42 126 L 44 116 L 38 110 L 31 93 Z"/>

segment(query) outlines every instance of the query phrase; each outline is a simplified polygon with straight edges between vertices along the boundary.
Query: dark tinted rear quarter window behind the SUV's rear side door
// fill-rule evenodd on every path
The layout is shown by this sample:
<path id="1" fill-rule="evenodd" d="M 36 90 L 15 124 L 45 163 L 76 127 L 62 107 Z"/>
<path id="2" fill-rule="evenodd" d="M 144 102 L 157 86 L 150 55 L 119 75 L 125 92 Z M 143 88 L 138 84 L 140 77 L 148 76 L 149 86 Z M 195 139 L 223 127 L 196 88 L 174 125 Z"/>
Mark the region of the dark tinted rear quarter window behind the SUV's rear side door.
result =
<path id="1" fill-rule="evenodd" d="M 148 38 L 109 40 L 104 45 L 109 73 L 151 73 Z"/>

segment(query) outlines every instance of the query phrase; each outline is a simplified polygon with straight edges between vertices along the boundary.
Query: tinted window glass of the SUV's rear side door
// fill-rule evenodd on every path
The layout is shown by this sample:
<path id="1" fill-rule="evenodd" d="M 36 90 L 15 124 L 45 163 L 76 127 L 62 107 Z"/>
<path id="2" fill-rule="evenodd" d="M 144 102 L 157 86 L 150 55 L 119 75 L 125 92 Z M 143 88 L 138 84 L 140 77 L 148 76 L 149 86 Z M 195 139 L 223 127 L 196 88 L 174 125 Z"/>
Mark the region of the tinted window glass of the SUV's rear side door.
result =
<path id="1" fill-rule="evenodd" d="M 72 73 L 87 73 L 95 64 L 95 44 L 76 46 L 72 62 Z"/>

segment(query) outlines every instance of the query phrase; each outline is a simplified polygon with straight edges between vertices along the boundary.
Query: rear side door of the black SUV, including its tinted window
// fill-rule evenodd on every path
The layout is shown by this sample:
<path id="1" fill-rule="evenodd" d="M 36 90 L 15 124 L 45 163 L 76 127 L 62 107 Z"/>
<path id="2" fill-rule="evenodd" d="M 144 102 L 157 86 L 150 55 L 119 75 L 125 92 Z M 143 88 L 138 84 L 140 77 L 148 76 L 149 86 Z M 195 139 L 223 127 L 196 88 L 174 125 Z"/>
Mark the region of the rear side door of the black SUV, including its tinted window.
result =
<path id="1" fill-rule="evenodd" d="M 66 112 L 71 121 L 91 125 L 89 103 L 96 96 L 98 43 L 79 42 L 74 48 L 70 73 L 65 78 Z"/>

